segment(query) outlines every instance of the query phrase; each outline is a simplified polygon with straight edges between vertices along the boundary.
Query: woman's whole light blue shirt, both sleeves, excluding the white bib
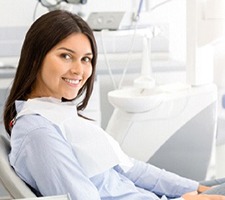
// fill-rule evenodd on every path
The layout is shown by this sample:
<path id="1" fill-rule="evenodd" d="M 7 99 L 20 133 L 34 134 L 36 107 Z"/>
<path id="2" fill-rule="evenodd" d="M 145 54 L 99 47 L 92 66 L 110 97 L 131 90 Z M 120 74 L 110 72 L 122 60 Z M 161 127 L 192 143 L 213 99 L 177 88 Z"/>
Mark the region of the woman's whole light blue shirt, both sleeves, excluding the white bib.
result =
<path id="1" fill-rule="evenodd" d="M 25 115 L 16 121 L 11 146 L 9 159 L 16 173 L 43 196 L 69 193 L 73 200 L 182 199 L 199 185 L 135 159 L 126 173 L 115 166 L 88 178 L 58 127 L 40 115 Z"/>

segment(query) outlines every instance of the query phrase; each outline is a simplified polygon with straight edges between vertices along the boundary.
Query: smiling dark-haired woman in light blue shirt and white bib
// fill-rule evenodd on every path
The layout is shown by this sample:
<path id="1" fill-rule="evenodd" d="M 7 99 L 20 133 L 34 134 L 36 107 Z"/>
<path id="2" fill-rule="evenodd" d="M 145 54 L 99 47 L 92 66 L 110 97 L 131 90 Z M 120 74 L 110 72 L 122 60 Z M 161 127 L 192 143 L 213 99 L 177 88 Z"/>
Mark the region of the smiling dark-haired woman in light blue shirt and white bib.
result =
<path id="1" fill-rule="evenodd" d="M 52 11 L 29 29 L 4 111 L 9 159 L 21 179 L 43 196 L 73 200 L 223 199 L 197 195 L 209 187 L 129 158 L 79 115 L 96 59 L 92 30 L 74 14 Z"/>

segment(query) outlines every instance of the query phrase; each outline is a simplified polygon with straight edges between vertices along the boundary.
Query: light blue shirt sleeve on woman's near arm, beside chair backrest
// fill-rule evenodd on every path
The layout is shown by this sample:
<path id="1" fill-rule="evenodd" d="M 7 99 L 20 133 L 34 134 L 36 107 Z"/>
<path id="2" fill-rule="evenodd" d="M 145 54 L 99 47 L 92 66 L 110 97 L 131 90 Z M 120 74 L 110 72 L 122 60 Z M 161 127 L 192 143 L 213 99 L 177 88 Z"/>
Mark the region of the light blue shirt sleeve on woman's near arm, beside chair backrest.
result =
<path id="1" fill-rule="evenodd" d="M 33 129 L 22 142 L 15 169 L 44 196 L 70 194 L 71 199 L 100 200 L 71 146 L 54 126 Z"/>

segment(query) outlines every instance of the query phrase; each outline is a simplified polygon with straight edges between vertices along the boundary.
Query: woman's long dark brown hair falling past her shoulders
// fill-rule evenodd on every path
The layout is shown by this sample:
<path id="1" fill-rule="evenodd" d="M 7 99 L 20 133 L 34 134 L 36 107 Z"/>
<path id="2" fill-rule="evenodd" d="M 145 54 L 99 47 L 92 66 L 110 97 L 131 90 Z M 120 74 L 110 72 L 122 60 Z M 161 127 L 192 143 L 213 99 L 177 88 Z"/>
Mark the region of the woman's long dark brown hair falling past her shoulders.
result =
<path id="1" fill-rule="evenodd" d="M 85 34 L 90 40 L 93 53 L 92 75 L 76 97 L 84 94 L 77 106 L 78 113 L 87 106 L 93 90 L 97 60 L 97 45 L 93 31 L 81 17 L 73 13 L 62 10 L 48 12 L 31 25 L 24 39 L 18 68 L 4 107 L 4 125 L 9 135 L 11 121 L 17 114 L 15 101 L 27 100 L 46 54 L 73 33 Z"/>

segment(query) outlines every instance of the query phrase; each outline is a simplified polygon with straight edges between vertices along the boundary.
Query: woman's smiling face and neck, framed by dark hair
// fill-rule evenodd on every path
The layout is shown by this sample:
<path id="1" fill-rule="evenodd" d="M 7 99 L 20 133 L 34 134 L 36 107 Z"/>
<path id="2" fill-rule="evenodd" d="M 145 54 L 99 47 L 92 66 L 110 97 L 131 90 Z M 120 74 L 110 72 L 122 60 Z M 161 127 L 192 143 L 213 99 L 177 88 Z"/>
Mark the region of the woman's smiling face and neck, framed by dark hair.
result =
<path id="1" fill-rule="evenodd" d="M 86 35 L 68 36 L 44 58 L 31 98 L 74 99 L 92 74 L 92 58 L 91 43 Z"/>

